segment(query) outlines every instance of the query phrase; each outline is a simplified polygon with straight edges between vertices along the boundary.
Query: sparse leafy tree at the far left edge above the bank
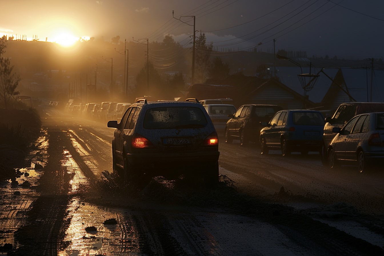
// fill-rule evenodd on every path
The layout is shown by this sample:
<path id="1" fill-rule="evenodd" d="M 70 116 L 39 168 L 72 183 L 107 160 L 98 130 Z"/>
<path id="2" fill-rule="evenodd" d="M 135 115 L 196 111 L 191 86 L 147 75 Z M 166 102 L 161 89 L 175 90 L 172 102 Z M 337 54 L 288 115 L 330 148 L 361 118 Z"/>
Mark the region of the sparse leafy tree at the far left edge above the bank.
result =
<path id="1" fill-rule="evenodd" d="M 0 38 L 0 100 L 4 102 L 7 109 L 7 104 L 13 96 L 20 94 L 16 88 L 21 79 L 13 73 L 10 58 L 4 57 L 5 48 L 7 48 L 7 38 L 3 36 Z"/>

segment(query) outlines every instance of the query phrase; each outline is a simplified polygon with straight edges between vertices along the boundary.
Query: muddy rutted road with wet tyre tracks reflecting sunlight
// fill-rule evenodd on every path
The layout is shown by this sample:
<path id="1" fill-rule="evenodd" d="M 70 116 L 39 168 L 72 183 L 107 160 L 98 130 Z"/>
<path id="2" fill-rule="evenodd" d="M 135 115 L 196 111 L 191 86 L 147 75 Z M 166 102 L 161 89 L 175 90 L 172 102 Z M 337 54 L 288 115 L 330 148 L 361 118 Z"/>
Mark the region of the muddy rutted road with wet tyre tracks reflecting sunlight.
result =
<path id="1" fill-rule="evenodd" d="M 220 142 L 220 183 L 111 175 L 113 129 L 48 107 L 18 183 L 0 186 L 6 255 L 383 255 L 383 175 Z M 25 182 L 25 183 L 24 183 Z"/>

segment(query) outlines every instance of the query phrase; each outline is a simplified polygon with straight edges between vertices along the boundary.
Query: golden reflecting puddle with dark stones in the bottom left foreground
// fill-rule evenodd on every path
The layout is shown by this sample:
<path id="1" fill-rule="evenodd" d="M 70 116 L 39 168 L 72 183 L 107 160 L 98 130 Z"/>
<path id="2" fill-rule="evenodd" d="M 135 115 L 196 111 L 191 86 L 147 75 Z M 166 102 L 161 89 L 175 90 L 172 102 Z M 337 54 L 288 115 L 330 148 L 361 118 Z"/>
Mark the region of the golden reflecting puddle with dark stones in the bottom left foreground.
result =
<path id="1" fill-rule="evenodd" d="M 112 210 L 73 198 L 67 210 L 72 216 L 64 238 L 68 246 L 58 251 L 58 256 L 142 255 L 134 222 L 123 209 Z M 117 224 L 104 225 L 109 219 L 116 219 Z M 89 227 L 96 231 L 87 232 Z"/>

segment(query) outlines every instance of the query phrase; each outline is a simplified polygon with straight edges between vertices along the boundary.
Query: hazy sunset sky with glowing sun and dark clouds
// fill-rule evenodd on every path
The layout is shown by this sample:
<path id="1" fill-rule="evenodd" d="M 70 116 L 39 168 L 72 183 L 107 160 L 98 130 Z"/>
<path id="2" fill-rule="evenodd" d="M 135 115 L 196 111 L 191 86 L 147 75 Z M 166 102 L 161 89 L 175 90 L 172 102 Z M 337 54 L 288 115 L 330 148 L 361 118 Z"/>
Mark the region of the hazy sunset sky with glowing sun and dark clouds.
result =
<path id="1" fill-rule="evenodd" d="M 188 46 L 203 31 L 217 50 L 275 48 L 307 56 L 364 59 L 384 57 L 382 0 L 12 0 L 2 1 L 0 35 L 34 35 L 40 41 L 104 37 L 110 41 L 170 34 Z M 172 18 L 187 22 L 190 25 Z"/>

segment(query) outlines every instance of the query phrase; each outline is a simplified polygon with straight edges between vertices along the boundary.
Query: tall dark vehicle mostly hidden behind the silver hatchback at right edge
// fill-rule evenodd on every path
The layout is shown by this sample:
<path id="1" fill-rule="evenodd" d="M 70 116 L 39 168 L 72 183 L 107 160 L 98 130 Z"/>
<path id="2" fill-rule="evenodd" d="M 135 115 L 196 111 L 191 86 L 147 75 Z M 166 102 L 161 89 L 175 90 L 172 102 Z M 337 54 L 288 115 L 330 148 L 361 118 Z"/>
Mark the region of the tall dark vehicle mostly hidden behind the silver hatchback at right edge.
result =
<path id="1" fill-rule="evenodd" d="M 323 159 L 324 165 L 328 164 L 327 149 L 333 137 L 336 135 L 332 132 L 334 127 L 343 128 L 343 126 L 359 114 L 369 112 L 384 112 L 384 103 L 382 102 L 344 102 L 334 112 L 333 117 L 325 118 L 324 135 L 323 135 Z"/>

